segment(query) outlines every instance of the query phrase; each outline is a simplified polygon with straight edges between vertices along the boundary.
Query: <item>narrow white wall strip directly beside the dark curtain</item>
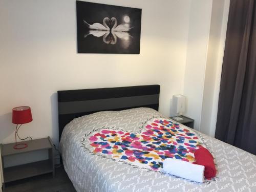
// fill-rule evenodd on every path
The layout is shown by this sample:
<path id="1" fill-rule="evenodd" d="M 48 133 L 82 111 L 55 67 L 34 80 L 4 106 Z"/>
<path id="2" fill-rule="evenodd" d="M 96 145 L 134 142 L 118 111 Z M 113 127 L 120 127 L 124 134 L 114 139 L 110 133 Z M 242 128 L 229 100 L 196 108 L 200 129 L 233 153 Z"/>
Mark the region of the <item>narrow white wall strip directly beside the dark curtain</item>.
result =
<path id="1" fill-rule="evenodd" d="M 200 131 L 215 136 L 229 0 L 212 1 Z"/>

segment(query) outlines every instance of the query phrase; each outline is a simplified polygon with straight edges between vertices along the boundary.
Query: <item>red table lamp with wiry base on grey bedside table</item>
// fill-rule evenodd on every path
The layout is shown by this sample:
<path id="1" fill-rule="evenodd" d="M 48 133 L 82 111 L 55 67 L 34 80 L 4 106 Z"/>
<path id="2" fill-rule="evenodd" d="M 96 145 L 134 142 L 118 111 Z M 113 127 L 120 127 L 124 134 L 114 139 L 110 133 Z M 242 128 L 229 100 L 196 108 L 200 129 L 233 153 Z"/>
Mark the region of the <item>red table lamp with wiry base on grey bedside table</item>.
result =
<path id="1" fill-rule="evenodd" d="M 16 108 L 12 109 L 12 123 L 16 124 L 15 145 L 13 146 L 13 148 L 15 150 L 21 150 L 21 149 L 26 148 L 28 146 L 27 143 L 19 143 L 19 144 L 17 144 L 17 137 L 20 140 L 25 140 L 25 139 L 28 139 L 28 138 L 30 138 L 32 140 L 31 137 L 27 137 L 25 139 L 21 139 L 18 136 L 19 127 L 22 126 L 25 123 L 31 122 L 32 120 L 33 119 L 32 119 L 31 109 L 30 109 L 29 106 L 17 106 Z"/>

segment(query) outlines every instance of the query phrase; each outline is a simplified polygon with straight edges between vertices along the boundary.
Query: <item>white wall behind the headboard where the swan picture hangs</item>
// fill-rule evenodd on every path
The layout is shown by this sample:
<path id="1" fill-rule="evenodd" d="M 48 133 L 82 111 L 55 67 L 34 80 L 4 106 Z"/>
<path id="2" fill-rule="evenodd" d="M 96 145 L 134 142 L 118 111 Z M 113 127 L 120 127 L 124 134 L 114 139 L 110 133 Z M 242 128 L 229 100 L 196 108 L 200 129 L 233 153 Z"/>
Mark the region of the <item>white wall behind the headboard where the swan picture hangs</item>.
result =
<path id="1" fill-rule="evenodd" d="M 11 110 L 31 106 L 21 137 L 58 143 L 57 90 L 160 84 L 160 112 L 183 92 L 190 1 L 92 1 L 142 8 L 139 55 L 77 54 L 74 0 L 0 1 L 0 142 L 14 141 Z"/>

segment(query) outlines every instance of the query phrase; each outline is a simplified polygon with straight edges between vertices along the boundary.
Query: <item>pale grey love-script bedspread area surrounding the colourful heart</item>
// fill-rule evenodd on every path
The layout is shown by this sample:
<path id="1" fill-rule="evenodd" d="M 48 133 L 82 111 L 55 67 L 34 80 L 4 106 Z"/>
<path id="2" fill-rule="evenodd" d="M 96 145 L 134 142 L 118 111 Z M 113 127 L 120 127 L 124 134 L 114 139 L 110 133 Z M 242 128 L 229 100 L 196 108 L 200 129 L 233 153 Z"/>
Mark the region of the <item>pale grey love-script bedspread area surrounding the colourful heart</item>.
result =
<path id="1" fill-rule="evenodd" d="M 77 191 L 256 191 L 256 156 L 215 138 L 195 132 L 215 158 L 217 176 L 204 183 L 192 182 L 119 163 L 84 147 L 88 135 L 109 127 L 126 132 L 143 130 L 146 122 L 165 118 L 150 108 L 98 112 L 74 119 L 66 125 L 60 140 L 65 170 Z M 172 120 L 173 121 L 173 120 Z M 177 123 L 177 122 L 174 122 Z"/>

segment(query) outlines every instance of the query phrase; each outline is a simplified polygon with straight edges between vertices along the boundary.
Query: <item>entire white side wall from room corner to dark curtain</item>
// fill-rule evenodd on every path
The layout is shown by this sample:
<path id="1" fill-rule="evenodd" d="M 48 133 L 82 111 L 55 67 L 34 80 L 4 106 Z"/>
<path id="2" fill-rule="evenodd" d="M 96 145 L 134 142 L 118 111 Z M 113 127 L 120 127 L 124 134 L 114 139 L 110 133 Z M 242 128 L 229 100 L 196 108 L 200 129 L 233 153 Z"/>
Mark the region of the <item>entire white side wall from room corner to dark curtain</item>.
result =
<path id="1" fill-rule="evenodd" d="M 229 0 L 191 3 L 184 79 L 187 115 L 195 129 L 214 136 Z"/>

